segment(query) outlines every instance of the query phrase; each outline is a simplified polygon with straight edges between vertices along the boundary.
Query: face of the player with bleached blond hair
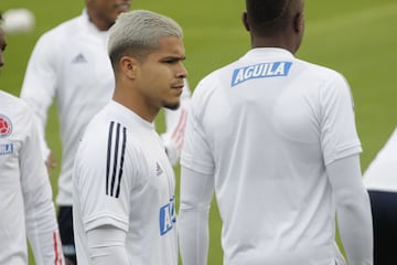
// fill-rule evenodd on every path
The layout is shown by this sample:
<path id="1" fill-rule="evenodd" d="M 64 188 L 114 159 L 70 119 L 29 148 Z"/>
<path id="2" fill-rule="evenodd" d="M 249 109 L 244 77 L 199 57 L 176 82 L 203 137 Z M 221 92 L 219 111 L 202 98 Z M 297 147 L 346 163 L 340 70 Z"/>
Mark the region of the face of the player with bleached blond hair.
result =
<path id="1" fill-rule="evenodd" d="M 159 44 L 159 47 L 139 64 L 138 87 L 147 107 L 176 109 L 187 75 L 183 65 L 183 41 L 175 36 L 163 36 Z"/>

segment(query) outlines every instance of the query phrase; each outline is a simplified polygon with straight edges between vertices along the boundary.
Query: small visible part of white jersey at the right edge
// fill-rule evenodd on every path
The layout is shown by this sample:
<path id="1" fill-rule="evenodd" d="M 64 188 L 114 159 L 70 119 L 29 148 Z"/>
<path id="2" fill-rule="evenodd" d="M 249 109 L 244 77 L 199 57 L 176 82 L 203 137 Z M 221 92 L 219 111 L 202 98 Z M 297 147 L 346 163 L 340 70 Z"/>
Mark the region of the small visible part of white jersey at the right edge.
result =
<path id="1" fill-rule="evenodd" d="M 397 127 L 364 173 L 369 190 L 397 192 Z"/>

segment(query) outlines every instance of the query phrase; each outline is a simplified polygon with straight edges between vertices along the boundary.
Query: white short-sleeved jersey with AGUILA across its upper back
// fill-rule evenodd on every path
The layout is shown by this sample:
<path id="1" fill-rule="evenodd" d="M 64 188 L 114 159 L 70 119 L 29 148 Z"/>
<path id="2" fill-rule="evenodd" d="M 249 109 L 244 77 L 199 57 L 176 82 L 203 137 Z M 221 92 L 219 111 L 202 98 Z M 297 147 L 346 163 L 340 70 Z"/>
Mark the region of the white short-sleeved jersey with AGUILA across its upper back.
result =
<path id="1" fill-rule="evenodd" d="M 200 82 L 181 165 L 214 176 L 202 182 L 215 189 L 224 264 L 335 264 L 325 168 L 362 151 L 350 93 L 341 74 L 270 47 Z"/>

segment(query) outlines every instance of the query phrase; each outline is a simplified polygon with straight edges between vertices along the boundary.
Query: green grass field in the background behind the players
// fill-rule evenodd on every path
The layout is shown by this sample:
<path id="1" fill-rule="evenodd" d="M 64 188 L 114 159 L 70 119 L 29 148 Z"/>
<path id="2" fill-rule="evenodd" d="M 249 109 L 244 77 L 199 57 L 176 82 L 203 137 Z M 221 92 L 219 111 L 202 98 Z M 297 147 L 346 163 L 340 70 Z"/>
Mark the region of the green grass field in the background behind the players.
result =
<path id="1" fill-rule="evenodd" d="M 240 23 L 244 0 L 135 0 L 133 9 L 171 15 L 185 33 L 189 82 L 192 88 L 211 71 L 242 56 L 249 49 Z M 29 34 L 9 34 L 0 89 L 19 95 L 29 55 L 37 38 L 57 23 L 82 12 L 83 0 L 2 0 L 0 10 L 28 8 L 36 15 Z M 297 56 L 333 67 L 351 84 L 366 169 L 397 125 L 397 2 L 395 0 L 307 0 L 305 36 Z M 160 121 L 160 129 L 162 128 Z M 55 107 L 50 110 L 49 142 L 61 159 Z M 175 168 L 179 177 L 179 167 Z M 55 170 L 52 176 L 56 193 Z M 222 264 L 221 221 L 216 205 L 211 213 L 208 264 Z M 33 264 L 33 263 L 32 263 Z"/>

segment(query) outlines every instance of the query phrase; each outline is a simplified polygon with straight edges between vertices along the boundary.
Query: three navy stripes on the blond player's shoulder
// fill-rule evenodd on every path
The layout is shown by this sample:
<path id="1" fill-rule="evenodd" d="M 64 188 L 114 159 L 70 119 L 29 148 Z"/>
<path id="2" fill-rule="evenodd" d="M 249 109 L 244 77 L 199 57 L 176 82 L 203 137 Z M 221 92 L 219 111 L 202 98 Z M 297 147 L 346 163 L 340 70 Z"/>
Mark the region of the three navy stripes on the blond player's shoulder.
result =
<path id="1" fill-rule="evenodd" d="M 106 194 L 118 198 L 122 177 L 124 157 L 127 142 L 127 129 L 115 121 L 110 123 L 106 162 Z M 121 150 L 121 151 L 120 151 Z"/>

